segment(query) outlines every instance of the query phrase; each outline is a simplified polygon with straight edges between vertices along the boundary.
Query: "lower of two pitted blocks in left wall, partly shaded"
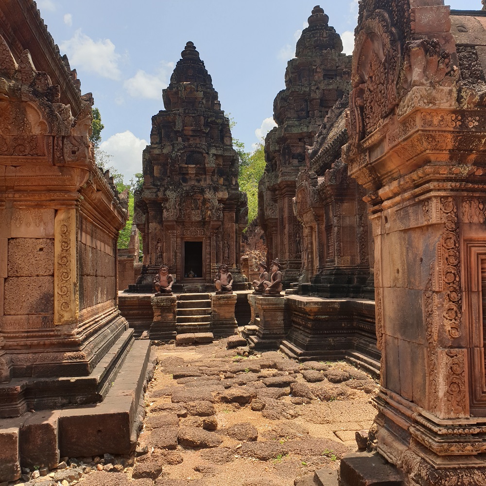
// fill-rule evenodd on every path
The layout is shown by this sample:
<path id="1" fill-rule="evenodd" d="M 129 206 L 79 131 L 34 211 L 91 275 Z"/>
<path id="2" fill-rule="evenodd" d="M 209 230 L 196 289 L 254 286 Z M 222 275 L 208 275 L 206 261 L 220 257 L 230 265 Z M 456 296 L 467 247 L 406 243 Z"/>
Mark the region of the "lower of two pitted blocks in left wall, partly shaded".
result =
<path id="1" fill-rule="evenodd" d="M 53 277 L 9 277 L 5 279 L 5 315 L 52 314 Z"/>

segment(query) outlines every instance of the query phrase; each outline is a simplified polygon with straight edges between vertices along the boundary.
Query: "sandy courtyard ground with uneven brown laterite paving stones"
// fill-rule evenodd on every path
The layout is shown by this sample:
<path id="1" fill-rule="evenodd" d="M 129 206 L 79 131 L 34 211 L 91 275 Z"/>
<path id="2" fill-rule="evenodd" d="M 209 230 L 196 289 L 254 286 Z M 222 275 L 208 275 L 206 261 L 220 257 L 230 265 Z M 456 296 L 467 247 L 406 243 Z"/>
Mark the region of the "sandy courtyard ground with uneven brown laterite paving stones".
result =
<path id="1" fill-rule="evenodd" d="M 369 375 L 345 362 L 299 364 L 226 346 L 153 346 L 158 363 L 136 457 L 67 460 L 64 471 L 82 473 L 75 481 L 83 486 L 291 486 L 337 470 L 356 451 L 356 431 L 376 415 L 378 383 Z"/>

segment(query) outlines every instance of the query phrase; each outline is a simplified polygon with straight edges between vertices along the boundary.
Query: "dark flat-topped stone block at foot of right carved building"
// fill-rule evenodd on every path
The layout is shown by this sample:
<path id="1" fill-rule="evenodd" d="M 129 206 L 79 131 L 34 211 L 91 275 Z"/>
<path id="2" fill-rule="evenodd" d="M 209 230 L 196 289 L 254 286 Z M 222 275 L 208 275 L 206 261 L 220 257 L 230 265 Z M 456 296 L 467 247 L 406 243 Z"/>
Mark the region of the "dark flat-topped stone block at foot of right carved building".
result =
<path id="1" fill-rule="evenodd" d="M 377 452 L 351 452 L 341 459 L 340 486 L 403 486 L 403 473 Z M 457 483 L 459 484 L 459 483 Z"/>

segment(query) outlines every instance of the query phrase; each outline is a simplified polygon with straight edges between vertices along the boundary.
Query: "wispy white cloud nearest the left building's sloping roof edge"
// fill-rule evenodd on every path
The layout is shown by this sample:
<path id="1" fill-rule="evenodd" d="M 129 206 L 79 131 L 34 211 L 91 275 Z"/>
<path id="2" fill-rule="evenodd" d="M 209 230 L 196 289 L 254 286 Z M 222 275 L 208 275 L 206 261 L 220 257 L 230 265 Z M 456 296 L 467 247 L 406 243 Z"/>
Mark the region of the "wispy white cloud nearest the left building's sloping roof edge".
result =
<path id="1" fill-rule="evenodd" d="M 71 68 L 81 68 L 108 79 L 119 80 L 118 68 L 120 54 L 110 39 L 96 42 L 78 29 L 72 38 L 61 42 L 60 48 L 67 52 Z"/>

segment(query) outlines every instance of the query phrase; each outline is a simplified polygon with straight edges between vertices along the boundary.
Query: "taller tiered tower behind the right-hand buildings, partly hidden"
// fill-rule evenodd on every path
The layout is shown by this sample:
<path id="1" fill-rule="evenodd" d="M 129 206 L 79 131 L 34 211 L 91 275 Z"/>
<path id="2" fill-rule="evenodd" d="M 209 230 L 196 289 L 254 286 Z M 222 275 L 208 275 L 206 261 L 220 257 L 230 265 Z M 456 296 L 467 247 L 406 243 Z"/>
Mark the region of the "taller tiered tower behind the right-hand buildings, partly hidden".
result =
<path id="1" fill-rule="evenodd" d="M 285 89 L 274 101 L 274 128 L 265 140 L 267 167 L 259 185 L 259 219 L 269 259 L 279 258 L 284 283 L 296 282 L 303 267 L 302 226 L 294 214 L 295 180 L 306 167 L 306 146 L 332 106 L 349 90 L 351 56 L 329 17 L 314 7 L 285 72 Z"/>

